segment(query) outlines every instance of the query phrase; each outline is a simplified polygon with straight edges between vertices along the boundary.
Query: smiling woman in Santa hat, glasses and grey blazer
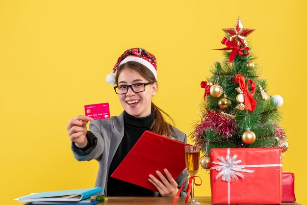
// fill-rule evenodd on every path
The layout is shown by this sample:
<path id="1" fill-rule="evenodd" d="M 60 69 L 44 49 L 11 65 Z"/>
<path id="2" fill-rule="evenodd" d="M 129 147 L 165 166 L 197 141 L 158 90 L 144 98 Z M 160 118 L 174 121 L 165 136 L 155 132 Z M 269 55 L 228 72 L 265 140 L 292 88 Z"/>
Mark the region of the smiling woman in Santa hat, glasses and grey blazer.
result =
<path id="1" fill-rule="evenodd" d="M 186 135 L 168 124 L 161 112 L 166 113 L 152 103 L 152 97 L 157 92 L 154 55 L 140 48 L 125 51 L 107 81 L 113 85 L 116 82 L 114 90 L 124 111 L 117 117 L 103 120 L 93 121 L 84 115 L 71 119 L 67 130 L 75 158 L 78 161 L 98 160 L 96 187 L 104 188 L 105 196 L 175 196 L 187 179 L 186 170 L 176 180 L 167 169 L 164 169 L 167 178 L 159 171 L 156 174 L 160 179 L 149 175 L 148 180 L 159 193 L 110 177 L 145 130 L 187 142 Z M 86 124 L 89 121 L 88 131 Z M 186 196 L 185 188 L 182 190 L 180 195 Z"/>

